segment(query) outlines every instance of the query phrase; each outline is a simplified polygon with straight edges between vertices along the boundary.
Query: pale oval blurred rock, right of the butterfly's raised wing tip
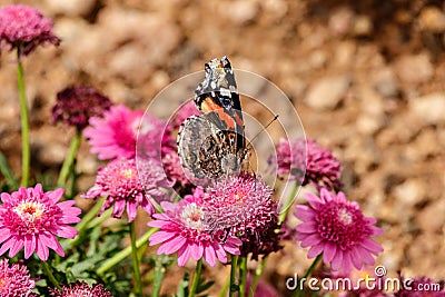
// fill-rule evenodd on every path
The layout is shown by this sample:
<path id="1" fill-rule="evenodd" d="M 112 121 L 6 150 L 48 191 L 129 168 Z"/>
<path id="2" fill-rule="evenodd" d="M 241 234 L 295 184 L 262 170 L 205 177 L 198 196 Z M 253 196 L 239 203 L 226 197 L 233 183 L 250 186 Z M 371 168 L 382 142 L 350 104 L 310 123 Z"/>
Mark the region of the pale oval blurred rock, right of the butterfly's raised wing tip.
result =
<path id="1" fill-rule="evenodd" d="M 317 110 L 334 109 L 345 97 L 349 85 L 350 77 L 347 75 L 318 79 L 310 86 L 305 101 Z"/>

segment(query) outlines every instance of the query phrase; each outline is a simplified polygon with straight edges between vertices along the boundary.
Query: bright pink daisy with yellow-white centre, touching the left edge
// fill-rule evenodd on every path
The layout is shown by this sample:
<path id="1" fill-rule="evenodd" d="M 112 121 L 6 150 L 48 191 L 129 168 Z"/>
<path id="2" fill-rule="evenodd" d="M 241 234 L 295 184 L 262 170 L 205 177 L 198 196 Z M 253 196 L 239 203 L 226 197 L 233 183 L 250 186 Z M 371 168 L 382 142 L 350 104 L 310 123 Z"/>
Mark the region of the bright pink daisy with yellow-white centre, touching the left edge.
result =
<path id="1" fill-rule="evenodd" d="M 46 261 L 51 248 L 60 256 L 63 249 L 56 236 L 75 238 L 77 230 L 69 224 L 79 222 L 81 210 L 72 207 L 76 201 L 57 202 L 63 189 L 43 192 L 39 184 L 36 188 L 21 187 L 12 194 L 2 192 L 0 206 L 0 255 L 9 249 L 12 258 L 24 247 L 24 258 L 37 253 Z"/>

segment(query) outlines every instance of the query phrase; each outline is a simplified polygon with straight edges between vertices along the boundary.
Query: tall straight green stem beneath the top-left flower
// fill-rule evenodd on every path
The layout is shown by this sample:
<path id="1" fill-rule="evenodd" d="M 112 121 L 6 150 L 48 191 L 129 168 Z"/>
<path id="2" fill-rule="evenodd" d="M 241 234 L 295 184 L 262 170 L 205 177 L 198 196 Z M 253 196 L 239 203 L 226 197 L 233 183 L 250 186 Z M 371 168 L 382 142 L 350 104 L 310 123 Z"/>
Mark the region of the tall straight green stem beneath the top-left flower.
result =
<path id="1" fill-rule="evenodd" d="M 29 169 L 31 164 L 31 150 L 29 146 L 29 115 L 27 95 L 24 92 L 23 66 L 20 61 L 20 47 L 17 49 L 17 85 L 19 88 L 20 100 L 20 122 L 21 122 L 21 186 L 28 187 Z"/>

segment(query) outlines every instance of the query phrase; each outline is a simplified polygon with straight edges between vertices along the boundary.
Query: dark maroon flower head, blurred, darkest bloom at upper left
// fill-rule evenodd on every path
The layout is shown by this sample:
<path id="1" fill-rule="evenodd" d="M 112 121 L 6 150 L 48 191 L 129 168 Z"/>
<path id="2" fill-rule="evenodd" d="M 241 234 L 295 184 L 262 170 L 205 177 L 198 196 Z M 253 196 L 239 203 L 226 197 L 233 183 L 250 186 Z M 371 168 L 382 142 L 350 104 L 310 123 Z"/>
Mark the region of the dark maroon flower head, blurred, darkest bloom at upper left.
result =
<path id="1" fill-rule="evenodd" d="M 111 100 L 92 87 L 69 87 L 57 93 L 51 121 L 63 121 L 81 130 L 91 117 L 101 117 L 111 106 Z"/>

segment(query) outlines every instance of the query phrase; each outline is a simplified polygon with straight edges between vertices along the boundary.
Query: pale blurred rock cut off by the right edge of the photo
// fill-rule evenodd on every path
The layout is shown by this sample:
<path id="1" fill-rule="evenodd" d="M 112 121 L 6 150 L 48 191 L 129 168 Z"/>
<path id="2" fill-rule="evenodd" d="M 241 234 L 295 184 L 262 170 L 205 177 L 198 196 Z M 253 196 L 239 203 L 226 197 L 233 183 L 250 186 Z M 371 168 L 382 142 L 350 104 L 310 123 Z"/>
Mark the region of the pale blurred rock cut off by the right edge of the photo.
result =
<path id="1" fill-rule="evenodd" d="M 424 125 L 445 122 L 445 93 L 435 92 L 409 100 L 409 111 Z"/>

